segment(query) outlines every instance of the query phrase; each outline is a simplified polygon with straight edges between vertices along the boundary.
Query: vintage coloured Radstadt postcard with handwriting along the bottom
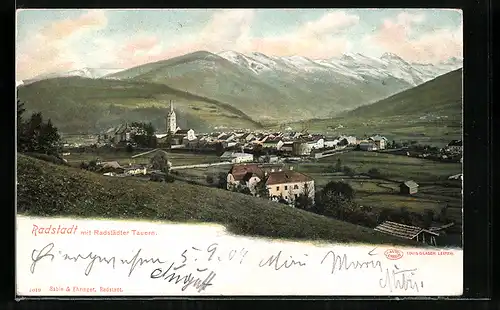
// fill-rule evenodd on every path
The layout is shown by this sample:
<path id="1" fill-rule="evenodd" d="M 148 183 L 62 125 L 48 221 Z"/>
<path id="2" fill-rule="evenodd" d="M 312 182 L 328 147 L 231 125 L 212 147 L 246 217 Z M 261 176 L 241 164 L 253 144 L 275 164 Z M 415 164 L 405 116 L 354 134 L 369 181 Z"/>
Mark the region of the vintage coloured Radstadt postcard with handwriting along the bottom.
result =
<path id="1" fill-rule="evenodd" d="M 463 293 L 460 10 L 16 20 L 18 298 Z"/>

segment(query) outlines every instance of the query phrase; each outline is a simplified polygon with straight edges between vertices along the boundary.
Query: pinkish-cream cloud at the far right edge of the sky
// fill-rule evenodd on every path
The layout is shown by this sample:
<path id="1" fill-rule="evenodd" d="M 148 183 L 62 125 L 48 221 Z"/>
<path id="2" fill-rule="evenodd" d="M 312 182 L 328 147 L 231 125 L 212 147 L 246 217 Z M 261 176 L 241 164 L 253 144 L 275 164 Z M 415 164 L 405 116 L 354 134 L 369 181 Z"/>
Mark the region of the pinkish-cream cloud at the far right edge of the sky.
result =
<path id="1" fill-rule="evenodd" d="M 451 57 L 462 57 L 462 24 L 455 29 L 435 29 L 416 36 L 413 27 L 424 21 L 423 15 L 400 13 L 395 19 L 384 20 L 364 41 L 411 62 L 437 63 Z"/>

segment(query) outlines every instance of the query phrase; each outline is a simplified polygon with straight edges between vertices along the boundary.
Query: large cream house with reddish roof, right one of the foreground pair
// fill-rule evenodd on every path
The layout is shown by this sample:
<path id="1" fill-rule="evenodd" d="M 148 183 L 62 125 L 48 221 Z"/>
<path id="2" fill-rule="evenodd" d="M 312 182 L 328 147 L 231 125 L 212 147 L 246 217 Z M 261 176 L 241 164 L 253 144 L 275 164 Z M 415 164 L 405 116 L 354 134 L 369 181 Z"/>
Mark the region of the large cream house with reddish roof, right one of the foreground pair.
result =
<path id="1" fill-rule="evenodd" d="M 266 186 L 271 199 L 284 199 L 290 203 L 301 194 L 307 194 L 314 202 L 314 180 L 297 171 L 282 170 L 267 175 Z"/>

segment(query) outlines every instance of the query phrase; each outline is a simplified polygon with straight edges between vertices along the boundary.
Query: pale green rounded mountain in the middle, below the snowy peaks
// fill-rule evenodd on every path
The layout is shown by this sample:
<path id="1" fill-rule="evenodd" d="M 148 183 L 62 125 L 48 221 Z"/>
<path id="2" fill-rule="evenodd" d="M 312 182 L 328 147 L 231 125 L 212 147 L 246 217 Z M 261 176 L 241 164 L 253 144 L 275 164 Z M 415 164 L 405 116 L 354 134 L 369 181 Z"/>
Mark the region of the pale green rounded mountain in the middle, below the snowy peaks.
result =
<path id="1" fill-rule="evenodd" d="M 267 123 L 333 116 L 409 87 L 394 78 L 359 81 L 332 72 L 295 74 L 271 70 L 256 75 L 204 51 L 109 77 L 170 85 L 226 102 L 252 119 Z"/>

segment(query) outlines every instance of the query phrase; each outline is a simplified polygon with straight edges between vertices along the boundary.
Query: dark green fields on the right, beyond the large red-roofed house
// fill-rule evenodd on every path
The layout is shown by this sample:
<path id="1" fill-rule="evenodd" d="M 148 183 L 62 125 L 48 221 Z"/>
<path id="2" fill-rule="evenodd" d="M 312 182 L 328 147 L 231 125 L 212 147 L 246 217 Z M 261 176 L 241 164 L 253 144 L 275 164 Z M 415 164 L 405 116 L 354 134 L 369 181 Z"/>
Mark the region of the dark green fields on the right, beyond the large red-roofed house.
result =
<path id="1" fill-rule="evenodd" d="M 335 166 L 337 159 L 342 165 L 355 170 L 353 177 L 343 173 L 325 173 Z M 457 224 L 462 222 L 461 182 L 448 180 L 448 176 L 462 172 L 459 163 L 441 163 L 387 153 L 353 151 L 322 158 L 314 163 L 294 165 L 295 170 L 306 173 L 315 180 L 317 190 L 330 181 L 345 181 L 356 190 L 357 202 L 372 208 L 406 207 L 411 212 L 424 213 L 449 206 L 449 215 Z M 383 174 L 381 178 L 360 176 L 371 168 Z M 402 181 L 413 180 L 419 184 L 419 192 L 412 196 L 399 194 Z"/>

